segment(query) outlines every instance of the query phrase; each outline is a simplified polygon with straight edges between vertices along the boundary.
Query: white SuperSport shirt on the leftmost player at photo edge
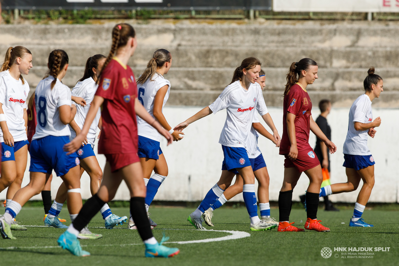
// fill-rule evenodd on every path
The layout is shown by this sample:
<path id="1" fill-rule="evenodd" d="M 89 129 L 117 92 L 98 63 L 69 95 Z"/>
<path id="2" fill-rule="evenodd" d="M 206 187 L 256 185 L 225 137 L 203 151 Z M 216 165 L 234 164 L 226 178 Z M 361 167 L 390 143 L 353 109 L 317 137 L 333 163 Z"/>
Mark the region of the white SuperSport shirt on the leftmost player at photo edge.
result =
<path id="1" fill-rule="evenodd" d="M 24 109 L 29 93 L 28 82 L 22 84 L 21 79 L 14 79 L 8 70 L 0 72 L 0 103 L 6 115 L 8 131 L 14 141 L 28 139 L 25 130 Z M 0 142 L 4 142 L 3 131 L 0 129 Z"/>

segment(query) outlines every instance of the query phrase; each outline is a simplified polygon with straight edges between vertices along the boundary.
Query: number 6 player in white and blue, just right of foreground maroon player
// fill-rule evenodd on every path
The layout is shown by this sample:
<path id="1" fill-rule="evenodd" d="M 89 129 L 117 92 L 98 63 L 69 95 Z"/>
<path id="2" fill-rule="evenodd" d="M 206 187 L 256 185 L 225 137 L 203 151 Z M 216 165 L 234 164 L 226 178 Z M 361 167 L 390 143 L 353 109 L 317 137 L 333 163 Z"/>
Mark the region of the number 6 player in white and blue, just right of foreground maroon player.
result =
<path id="1" fill-rule="evenodd" d="M 168 73 L 170 66 L 172 66 L 172 56 L 170 52 L 165 49 L 158 49 L 152 55 L 147 68 L 137 79 L 138 86 L 138 100 L 152 115 L 164 129 L 172 134 L 174 141 L 179 141 L 179 131 L 174 131 L 166 121 L 162 109 L 166 101 L 168 101 L 170 93 L 170 82 L 164 78 Z M 150 220 L 151 226 L 157 224 L 151 220 L 148 208 L 154 199 L 158 188 L 168 176 L 168 164 L 166 163 L 165 156 L 159 147 L 161 134 L 149 125 L 146 121 L 137 117 L 137 133 L 138 133 L 138 157 L 140 158 L 141 166 L 143 168 L 144 183 L 147 186 L 146 193 L 146 210 L 147 216 Z M 152 170 L 154 175 L 151 176 Z M 133 219 L 129 219 L 129 228 L 137 229 Z"/>

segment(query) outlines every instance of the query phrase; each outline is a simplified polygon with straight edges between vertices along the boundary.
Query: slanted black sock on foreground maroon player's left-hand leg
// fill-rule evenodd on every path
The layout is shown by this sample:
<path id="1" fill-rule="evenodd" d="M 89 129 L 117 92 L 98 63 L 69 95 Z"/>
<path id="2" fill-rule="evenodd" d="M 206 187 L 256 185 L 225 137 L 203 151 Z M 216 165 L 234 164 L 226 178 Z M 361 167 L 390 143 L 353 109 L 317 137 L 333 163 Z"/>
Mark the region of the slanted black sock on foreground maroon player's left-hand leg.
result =
<path id="1" fill-rule="evenodd" d="M 101 200 L 97 194 L 88 199 L 80 210 L 78 216 L 76 216 L 73 221 L 73 227 L 80 232 L 87 224 L 89 224 L 91 218 L 100 211 L 104 204 L 105 202 Z"/>

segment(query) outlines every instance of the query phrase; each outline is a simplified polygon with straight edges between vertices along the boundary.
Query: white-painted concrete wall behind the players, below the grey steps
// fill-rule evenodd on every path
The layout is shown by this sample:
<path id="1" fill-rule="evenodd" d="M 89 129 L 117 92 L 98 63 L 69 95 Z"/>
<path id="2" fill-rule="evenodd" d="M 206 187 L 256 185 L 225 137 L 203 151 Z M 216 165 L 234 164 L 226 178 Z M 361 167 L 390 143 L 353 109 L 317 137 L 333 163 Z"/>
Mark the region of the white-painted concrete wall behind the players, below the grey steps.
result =
<path id="1" fill-rule="evenodd" d="M 172 107 L 164 108 L 166 119 L 171 125 L 177 125 L 191 115 L 194 115 L 202 107 Z M 269 112 L 275 122 L 279 133 L 282 134 L 282 108 L 269 107 Z M 345 168 L 342 167 L 344 156 L 342 154 L 343 143 L 348 130 L 349 108 L 334 108 L 328 116 L 328 122 L 332 128 L 332 140 L 337 145 L 338 151 L 330 156 L 332 183 L 346 182 Z M 317 108 L 312 110 L 314 118 L 318 116 Z M 374 139 L 369 138 L 368 145 L 375 159 L 375 186 L 371 193 L 370 202 L 397 202 L 398 199 L 398 175 L 397 163 L 399 155 L 397 149 L 397 132 L 399 125 L 390 123 L 399 116 L 399 109 L 373 110 L 373 116 L 381 116 L 381 126 L 377 128 Z M 161 140 L 161 148 L 168 162 L 169 175 L 160 187 L 156 200 L 202 200 L 205 194 L 219 180 L 223 152 L 218 143 L 221 129 L 226 118 L 226 112 L 220 111 L 216 115 L 209 115 L 184 130 L 186 135 L 179 142 L 174 142 L 166 147 L 164 139 Z M 261 117 L 259 117 L 261 119 Z M 267 125 L 262 122 L 266 128 Z M 314 147 L 316 137 L 310 133 L 309 143 Z M 271 141 L 259 137 L 259 147 L 263 152 L 267 169 L 270 175 L 270 200 L 278 200 L 279 191 L 284 175 L 284 157 L 279 155 L 279 149 Z M 97 154 L 97 147 L 95 147 Z M 97 155 L 101 167 L 105 165 L 104 155 Z M 29 159 L 25 172 L 23 186 L 29 183 Z M 54 177 L 51 184 L 51 195 L 54 198 L 61 184 L 61 178 Z M 360 187 L 361 187 L 360 183 Z M 81 181 L 82 197 L 89 198 L 89 177 L 84 173 Z M 308 186 L 308 178 L 302 175 L 297 187 L 294 189 L 294 200 L 299 200 Z M 360 188 L 359 188 L 360 189 Z M 359 191 L 358 189 L 358 191 Z M 355 202 L 358 191 L 332 195 L 331 200 L 342 202 Z M 0 199 L 5 199 L 6 191 L 0 193 Z M 32 199 L 41 199 L 37 195 Z M 130 199 L 128 189 L 123 183 L 115 200 Z M 232 201 L 243 200 L 242 194 L 237 195 Z"/>

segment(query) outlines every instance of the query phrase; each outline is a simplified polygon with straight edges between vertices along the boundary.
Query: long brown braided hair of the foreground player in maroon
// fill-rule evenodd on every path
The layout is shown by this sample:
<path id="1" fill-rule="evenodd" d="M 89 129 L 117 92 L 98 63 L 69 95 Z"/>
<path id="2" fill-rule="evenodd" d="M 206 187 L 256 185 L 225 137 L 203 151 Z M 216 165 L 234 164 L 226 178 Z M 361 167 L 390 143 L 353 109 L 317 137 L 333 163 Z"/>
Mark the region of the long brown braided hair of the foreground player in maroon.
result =
<path id="1" fill-rule="evenodd" d="M 134 31 L 133 27 L 130 26 L 130 24 L 120 23 L 120 24 L 115 25 L 115 27 L 112 29 L 111 50 L 109 51 L 107 60 L 105 60 L 105 62 L 104 62 L 103 68 L 101 68 L 101 71 L 98 75 L 97 82 L 100 81 L 100 76 L 101 76 L 101 73 L 103 72 L 103 69 L 105 69 L 105 67 L 107 67 L 108 63 L 111 61 L 111 59 L 115 55 L 115 52 L 117 52 L 117 49 L 119 47 L 125 46 L 127 44 L 129 37 L 134 38 L 134 36 L 136 36 L 136 32 Z"/>

